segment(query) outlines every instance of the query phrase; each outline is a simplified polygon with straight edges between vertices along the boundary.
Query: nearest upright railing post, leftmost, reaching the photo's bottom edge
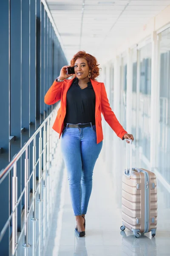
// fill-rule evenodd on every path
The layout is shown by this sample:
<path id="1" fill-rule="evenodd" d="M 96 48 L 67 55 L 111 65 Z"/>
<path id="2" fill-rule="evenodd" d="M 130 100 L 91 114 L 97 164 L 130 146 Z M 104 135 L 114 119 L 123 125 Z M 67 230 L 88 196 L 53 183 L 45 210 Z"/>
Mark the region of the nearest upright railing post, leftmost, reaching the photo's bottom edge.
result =
<path id="1" fill-rule="evenodd" d="M 17 203 L 17 163 L 14 163 L 12 177 L 12 211 L 14 211 Z M 17 208 L 12 214 L 12 254 L 14 254 L 15 246 L 17 245 Z"/>

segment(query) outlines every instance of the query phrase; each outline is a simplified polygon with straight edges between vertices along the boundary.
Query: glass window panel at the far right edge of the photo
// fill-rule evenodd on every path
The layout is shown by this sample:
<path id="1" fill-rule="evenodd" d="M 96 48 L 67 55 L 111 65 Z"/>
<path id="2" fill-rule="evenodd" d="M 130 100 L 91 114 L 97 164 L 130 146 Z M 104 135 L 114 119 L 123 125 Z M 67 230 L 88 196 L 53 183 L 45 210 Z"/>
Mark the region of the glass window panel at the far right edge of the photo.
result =
<path id="1" fill-rule="evenodd" d="M 170 183 L 170 28 L 159 34 L 159 150 L 158 170 Z"/>

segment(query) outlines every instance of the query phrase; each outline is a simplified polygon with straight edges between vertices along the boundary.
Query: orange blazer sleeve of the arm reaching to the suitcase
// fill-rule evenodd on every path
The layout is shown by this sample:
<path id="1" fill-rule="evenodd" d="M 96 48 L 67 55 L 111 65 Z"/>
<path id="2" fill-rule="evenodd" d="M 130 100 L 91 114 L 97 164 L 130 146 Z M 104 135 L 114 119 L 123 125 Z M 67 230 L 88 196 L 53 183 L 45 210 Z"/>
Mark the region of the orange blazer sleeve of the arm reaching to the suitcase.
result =
<path id="1" fill-rule="evenodd" d="M 102 83 L 102 86 L 101 86 L 101 105 L 102 105 L 102 114 L 106 122 L 111 126 L 111 128 L 117 134 L 117 136 L 122 139 L 123 136 L 127 133 L 127 131 L 125 131 L 125 129 L 119 123 L 115 114 L 111 110 L 104 83 Z"/>

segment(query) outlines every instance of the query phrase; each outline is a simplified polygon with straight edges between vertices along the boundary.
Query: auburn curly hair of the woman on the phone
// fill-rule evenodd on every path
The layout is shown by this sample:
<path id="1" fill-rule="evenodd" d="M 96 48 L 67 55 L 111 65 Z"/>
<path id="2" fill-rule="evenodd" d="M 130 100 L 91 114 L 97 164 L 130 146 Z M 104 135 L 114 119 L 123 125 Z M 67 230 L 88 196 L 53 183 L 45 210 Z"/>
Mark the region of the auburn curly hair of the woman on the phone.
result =
<path id="1" fill-rule="evenodd" d="M 84 58 L 87 61 L 88 67 L 91 70 L 91 79 L 94 80 L 96 77 L 99 76 L 99 69 L 101 69 L 101 68 L 98 67 L 99 64 L 97 64 L 97 60 L 94 56 L 86 53 L 85 51 L 79 51 L 73 56 L 73 58 L 70 62 L 71 67 L 74 66 L 74 64 L 78 58 Z"/>

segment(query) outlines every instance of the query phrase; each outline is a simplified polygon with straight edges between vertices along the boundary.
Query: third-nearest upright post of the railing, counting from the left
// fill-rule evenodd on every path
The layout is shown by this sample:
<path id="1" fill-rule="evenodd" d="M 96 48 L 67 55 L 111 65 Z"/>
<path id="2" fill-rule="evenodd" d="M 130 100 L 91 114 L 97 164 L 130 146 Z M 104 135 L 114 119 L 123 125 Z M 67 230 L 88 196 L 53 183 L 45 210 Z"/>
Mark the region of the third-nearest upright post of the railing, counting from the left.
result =
<path id="1" fill-rule="evenodd" d="M 35 167 L 35 163 L 36 163 L 36 138 L 34 137 L 34 144 L 33 144 L 33 150 L 32 150 L 32 168 L 34 169 Z M 33 172 L 33 198 L 35 196 L 35 193 L 36 193 L 36 168 L 34 169 L 34 172 Z M 33 202 L 33 205 L 32 205 L 32 212 L 33 212 L 33 215 L 32 215 L 32 218 L 31 218 L 31 221 L 37 221 L 37 218 L 35 217 L 36 216 L 36 199 L 34 198 L 34 202 Z"/>

